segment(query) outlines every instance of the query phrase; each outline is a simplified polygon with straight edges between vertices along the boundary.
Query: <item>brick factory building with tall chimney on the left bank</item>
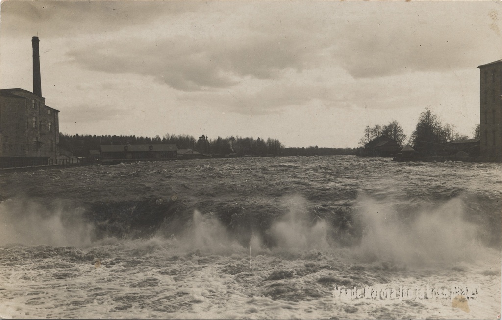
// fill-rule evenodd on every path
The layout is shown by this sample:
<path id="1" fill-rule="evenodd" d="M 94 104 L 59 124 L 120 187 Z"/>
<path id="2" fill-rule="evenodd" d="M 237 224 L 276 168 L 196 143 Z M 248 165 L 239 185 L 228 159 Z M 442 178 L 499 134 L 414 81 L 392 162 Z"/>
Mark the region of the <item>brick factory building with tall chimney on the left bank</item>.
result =
<path id="1" fill-rule="evenodd" d="M 59 110 L 45 104 L 40 76 L 39 39 L 33 37 L 33 92 L 0 90 L 0 162 L 2 167 L 55 163 Z"/>

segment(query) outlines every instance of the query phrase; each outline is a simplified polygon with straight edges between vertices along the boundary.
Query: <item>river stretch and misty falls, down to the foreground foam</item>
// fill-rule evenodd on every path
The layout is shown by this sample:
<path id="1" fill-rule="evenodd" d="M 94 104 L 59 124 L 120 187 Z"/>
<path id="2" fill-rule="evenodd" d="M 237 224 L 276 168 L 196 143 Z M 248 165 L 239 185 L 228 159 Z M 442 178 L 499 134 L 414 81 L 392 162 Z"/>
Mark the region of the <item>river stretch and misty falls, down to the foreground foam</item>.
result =
<path id="1" fill-rule="evenodd" d="M 467 259 L 476 246 L 500 248 L 497 170 L 295 157 L 12 174 L 0 182 L 13 186 L 2 189 L 0 245 L 158 237 L 186 250 L 352 248 L 368 261 Z"/>

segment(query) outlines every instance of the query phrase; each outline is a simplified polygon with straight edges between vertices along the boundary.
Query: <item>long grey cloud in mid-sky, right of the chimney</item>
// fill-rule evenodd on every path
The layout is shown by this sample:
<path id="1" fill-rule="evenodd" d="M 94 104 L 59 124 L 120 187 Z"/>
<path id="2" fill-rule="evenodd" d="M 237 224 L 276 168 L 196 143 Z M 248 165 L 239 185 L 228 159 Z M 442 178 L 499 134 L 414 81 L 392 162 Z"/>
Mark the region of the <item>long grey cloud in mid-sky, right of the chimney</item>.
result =
<path id="1" fill-rule="evenodd" d="M 243 77 L 273 79 L 282 70 L 302 70 L 312 55 L 301 39 L 244 35 L 239 41 L 171 37 L 128 38 L 81 45 L 67 53 L 88 70 L 153 76 L 182 91 L 232 87 Z"/>

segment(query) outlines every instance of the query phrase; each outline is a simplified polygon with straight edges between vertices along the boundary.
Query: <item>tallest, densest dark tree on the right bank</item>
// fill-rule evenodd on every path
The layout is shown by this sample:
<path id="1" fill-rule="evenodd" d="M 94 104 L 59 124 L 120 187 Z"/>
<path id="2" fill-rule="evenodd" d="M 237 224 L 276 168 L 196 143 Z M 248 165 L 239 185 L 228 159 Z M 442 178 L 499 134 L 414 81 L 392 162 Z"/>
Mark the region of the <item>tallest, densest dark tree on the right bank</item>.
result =
<path id="1" fill-rule="evenodd" d="M 420 114 L 410 140 L 415 150 L 433 153 L 438 148 L 442 135 L 444 135 L 444 129 L 441 126 L 441 120 L 429 108 L 425 108 L 425 111 Z"/>

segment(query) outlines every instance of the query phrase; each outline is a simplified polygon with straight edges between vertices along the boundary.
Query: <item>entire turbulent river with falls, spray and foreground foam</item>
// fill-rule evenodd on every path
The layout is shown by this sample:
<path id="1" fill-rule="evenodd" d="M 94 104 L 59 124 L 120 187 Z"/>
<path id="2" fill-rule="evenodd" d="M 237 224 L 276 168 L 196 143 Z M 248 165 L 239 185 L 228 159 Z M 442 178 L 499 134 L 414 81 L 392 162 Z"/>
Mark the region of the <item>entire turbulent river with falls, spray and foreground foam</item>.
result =
<path id="1" fill-rule="evenodd" d="M 495 318 L 500 169 L 314 156 L 2 173 L 0 316 Z M 431 295 L 454 286 L 474 299 Z"/>

